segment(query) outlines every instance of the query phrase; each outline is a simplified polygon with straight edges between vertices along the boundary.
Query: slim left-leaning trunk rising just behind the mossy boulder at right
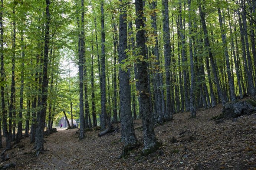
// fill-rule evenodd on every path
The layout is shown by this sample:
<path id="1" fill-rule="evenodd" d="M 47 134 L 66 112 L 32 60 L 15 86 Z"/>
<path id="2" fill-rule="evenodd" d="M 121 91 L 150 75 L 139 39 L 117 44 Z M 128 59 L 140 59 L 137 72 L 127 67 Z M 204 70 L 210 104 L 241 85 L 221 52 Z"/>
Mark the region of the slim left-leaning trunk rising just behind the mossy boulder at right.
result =
<path id="1" fill-rule="evenodd" d="M 220 30 L 221 30 L 221 39 L 222 39 L 222 43 L 223 43 L 224 55 L 225 55 L 226 65 L 227 65 L 227 77 L 229 79 L 231 100 L 232 100 L 232 102 L 234 102 L 236 100 L 236 95 L 234 93 L 234 80 L 232 79 L 232 75 L 231 75 L 231 71 L 230 71 L 229 53 L 227 51 L 227 41 L 226 41 L 225 30 L 223 28 L 223 22 L 222 22 L 220 8 L 218 8 L 218 14 L 219 14 L 219 23 L 220 23 Z"/>

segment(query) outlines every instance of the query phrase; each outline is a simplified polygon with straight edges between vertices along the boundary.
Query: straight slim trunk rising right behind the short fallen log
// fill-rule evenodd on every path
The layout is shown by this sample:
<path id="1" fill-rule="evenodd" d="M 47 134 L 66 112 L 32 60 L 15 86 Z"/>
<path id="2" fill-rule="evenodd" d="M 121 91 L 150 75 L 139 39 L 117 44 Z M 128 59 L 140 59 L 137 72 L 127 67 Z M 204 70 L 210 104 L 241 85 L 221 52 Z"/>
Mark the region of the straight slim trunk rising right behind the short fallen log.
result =
<path id="1" fill-rule="evenodd" d="M 106 74 L 105 74 L 105 30 L 104 2 L 101 1 L 101 130 L 106 129 Z"/>

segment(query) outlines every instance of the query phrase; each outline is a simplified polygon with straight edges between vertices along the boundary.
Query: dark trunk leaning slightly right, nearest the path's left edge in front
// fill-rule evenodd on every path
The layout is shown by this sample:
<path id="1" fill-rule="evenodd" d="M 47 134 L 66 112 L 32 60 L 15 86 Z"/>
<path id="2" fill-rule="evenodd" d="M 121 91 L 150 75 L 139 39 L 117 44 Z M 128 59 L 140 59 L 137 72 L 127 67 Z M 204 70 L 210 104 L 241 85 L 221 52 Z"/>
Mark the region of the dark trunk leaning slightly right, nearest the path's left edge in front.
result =
<path id="1" fill-rule="evenodd" d="M 45 24 L 45 47 L 44 47 L 44 58 L 43 58 L 43 78 L 42 78 L 42 101 L 41 111 L 39 115 L 39 126 L 36 129 L 36 150 L 38 155 L 43 147 L 43 134 L 45 129 L 45 116 L 47 108 L 47 93 L 48 93 L 48 78 L 47 78 L 47 67 L 48 67 L 48 52 L 49 52 L 49 30 L 50 30 L 50 0 L 46 0 L 46 24 Z"/>

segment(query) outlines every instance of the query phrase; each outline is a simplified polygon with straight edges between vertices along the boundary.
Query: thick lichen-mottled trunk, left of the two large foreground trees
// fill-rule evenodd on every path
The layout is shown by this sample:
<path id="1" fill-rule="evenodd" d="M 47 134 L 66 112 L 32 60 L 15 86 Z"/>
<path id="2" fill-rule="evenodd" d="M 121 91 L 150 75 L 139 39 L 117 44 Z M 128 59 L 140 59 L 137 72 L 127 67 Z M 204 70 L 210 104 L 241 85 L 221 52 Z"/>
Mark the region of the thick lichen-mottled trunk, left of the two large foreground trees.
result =
<path id="1" fill-rule="evenodd" d="M 127 2 L 120 0 L 120 14 L 119 14 L 119 50 L 118 62 L 124 64 L 127 59 Z M 132 121 L 131 110 L 131 95 L 129 86 L 129 72 L 125 71 L 119 66 L 119 98 L 120 98 L 120 111 L 121 111 L 121 141 L 124 142 L 122 156 L 125 156 L 129 149 L 134 147 L 137 143 L 135 136 L 134 125 Z"/>

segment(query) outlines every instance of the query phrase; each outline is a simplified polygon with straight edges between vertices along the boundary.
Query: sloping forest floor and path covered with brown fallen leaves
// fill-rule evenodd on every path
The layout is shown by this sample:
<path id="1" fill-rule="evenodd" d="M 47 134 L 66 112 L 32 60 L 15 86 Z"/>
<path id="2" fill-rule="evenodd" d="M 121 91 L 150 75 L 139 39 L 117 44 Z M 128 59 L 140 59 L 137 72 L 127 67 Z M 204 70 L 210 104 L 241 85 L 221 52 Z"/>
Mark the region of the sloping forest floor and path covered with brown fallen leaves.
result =
<path id="1" fill-rule="evenodd" d="M 195 119 L 189 119 L 188 112 L 178 113 L 174 120 L 156 126 L 157 139 L 163 145 L 146 157 L 141 156 L 141 146 L 127 157 L 117 159 L 122 151 L 120 132 L 98 137 L 99 131 L 93 130 L 79 140 L 78 129 L 69 129 L 46 137 L 46 152 L 37 157 L 33 144 L 28 144 L 29 138 L 22 139 L 20 145 L 24 147 L 7 151 L 10 159 L 0 166 L 14 162 L 13 169 L 256 170 L 256 113 L 216 125 L 210 118 L 220 114 L 221 109 L 221 105 L 199 109 Z M 142 126 L 141 120 L 135 120 L 134 126 Z M 142 129 L 135 133 L 142 142 Z"/>

